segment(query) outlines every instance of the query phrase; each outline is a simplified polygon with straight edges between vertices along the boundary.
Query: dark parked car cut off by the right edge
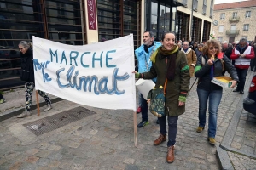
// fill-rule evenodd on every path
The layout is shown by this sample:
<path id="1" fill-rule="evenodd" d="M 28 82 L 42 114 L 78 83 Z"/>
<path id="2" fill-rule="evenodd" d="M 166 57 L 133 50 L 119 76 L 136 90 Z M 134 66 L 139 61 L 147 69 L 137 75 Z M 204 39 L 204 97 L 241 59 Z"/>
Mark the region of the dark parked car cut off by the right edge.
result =
<path id="1" fill-rule="evenodd" d="M 256 75 L 251 82 L 247 98 L 243 100 L 243 109 L 256 115 Z"/>

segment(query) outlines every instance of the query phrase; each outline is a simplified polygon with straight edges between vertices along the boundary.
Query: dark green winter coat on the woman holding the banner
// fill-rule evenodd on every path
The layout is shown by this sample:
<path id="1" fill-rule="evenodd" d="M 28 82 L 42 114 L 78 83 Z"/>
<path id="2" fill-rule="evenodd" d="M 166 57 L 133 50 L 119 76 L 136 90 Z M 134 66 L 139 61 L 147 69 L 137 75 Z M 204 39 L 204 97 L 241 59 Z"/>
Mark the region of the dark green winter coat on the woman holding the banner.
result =
<path id="1" fill-rule="evenodd" d="M 174 50 L 173 50 L 174 51 Z M 166 56 L 163 57 L 160 52 L 153 54 L 154 65 L 149 72 L 143 73 L 143 79 L 152 79 L 157 77 L 155 88 L 164 87 L 166 81 Z M 162 55 L 160 59 L 160 55 Z M 178 99 L 182 94 L 186 94 L 189 90 L 190 75 L 189 66 L 186 55 L 179 51 L 177 52 L 175 77 L 173 80 L 168 80 L 166 85 L 166 115 L 179 116 L 185 112 L 185 105 L 178 106 Z"/>

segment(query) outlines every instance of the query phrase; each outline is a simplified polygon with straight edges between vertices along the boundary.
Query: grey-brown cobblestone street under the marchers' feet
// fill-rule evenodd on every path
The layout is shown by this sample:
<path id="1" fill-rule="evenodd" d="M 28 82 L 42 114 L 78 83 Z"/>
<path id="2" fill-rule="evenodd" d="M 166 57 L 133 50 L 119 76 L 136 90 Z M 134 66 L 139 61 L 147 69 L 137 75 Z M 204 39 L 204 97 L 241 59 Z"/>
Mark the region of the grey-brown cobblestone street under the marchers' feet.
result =
<path id="1" fill-rule="evenodd" d="M 194 79 L 195 80 L 195 79 Z M 191 82 L 194 82 L 191 80 Z M 21 90 L 21 89 L 20 89 Z M 17 90 L 19 91 L 19 90 Z M 24 95 L 16 92 L 4 95 L 10 103 L 22 105 Z M 22 94 L 22 95 L 21 95 Z M 241 98 L 245 95 L 236 94 L 232 89 L 225 89 L 218 110 L 218 144 L 224 138 L 234 111 Z M 20 101 L 20 103 L 19 103 Z M 22 102 L 21 102 L 22 101 Z M 100 104 L 99 104 L 100 105 Z M 192 88 L 186 103 L 186 112 L 179 116 L 177 144 L 175 147 L 176 161 L 166 163 L 166 142 L 154 146 L 153 141 L 159 136 L 159 127 L 155 124 L 156 117 L 148 113 L 149 125 L 137 129 L 138 146 L 134 146 L 133 113 L 125 110 L 103 110 L 82 106 L 97 114 L 72 122 L 52 132 L 36 136 L 28 131 L 23 124 L 46 116 L 67 111 L 77 105 L 67 100 L 53 104 L 53 109 L 41 112 L 38 117 L 36 110 L 32 116 L 24 119 L 9 118 L 0 123 L 0 169 L 220 169 L 216 156 L 216 147 L 207 143 L 207 127 L 202 133 L 196 133 L 198 126 L 198 99 L 195 87 Z M 8 106 L 4 106 L 9 110 Z M 242 107 L 242 105 L 241 105 Z M 2 110 L 1 105 L 1 111 Z M 1 114 L 0 111 L 0 114 Z M 252 117 L 253 118 L 253 117 Z M 241 148 L 250 146 L 255 154 L 255 144 L 248 145 L 246 139 L 255 141 L 253 131 L 256 123 L 247 123 L 246 113 L 241 116 L 236 135 L 243 132 Z M 137 114 L 137 123 L 141 115 Z M 243 123 L 242 123 L 243 121 Z M 242 127 L 244 126 L 244 127 Z M 241 131 L 241 128 L 244 131 Z M 252 130 L 253 129 L 253 130 Z M 241 133 L 240 133 L 241 134 Z M 239 136 L 239 135 L 237 135 Z M 237 141 L 236 136 L 233 139 Z M 233 144 L 233 141 L 232 141 Z M 253 148 L 254 147 L 254 148 Z M 255 159 L 228 152 L 235 169 L 255 169 Z"/>

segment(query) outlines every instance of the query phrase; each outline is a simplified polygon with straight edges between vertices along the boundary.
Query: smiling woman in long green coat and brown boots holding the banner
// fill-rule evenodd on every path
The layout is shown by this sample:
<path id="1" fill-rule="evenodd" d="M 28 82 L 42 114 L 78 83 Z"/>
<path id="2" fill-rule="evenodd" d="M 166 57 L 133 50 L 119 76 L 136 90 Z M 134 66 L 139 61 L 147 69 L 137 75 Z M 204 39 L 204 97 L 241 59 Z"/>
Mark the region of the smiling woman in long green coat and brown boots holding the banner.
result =
<path id="1" fill-rule="evenodd" d="M 185 112 L 186 96 L 189 90 L 190 76 L 186 55 L 175 44 L 175 33 L 168 31 L 161 37 L 162 46 L 152 54 L 153 66 L 149 72 L 136 73 L 137 78 L 152 79 L 157 77 L 155 88 L 164 87 L 166 82 L 165 116 L 159 117 L 160 136 L 154 145 L 166 141 L 166 116 L 168 118 L 168 142 L 166 161 L 174 161 L 174 144 L 177 135 L 177 119 Z"/>

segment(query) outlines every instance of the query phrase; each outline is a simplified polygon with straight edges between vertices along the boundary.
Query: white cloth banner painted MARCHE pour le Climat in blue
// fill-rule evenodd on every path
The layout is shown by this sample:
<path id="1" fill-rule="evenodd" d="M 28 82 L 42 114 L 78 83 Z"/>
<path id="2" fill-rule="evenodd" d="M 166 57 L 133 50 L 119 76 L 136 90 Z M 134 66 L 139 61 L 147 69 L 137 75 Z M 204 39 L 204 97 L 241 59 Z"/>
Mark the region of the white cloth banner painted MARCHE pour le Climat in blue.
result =
<path id="1" fill-rule="evenodd" d="M 84 46 L 33 37 L 36 89 L 81 105 L 136 111 L 133 35 Z"/>

